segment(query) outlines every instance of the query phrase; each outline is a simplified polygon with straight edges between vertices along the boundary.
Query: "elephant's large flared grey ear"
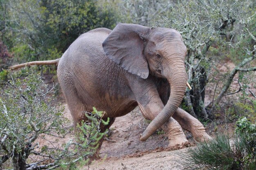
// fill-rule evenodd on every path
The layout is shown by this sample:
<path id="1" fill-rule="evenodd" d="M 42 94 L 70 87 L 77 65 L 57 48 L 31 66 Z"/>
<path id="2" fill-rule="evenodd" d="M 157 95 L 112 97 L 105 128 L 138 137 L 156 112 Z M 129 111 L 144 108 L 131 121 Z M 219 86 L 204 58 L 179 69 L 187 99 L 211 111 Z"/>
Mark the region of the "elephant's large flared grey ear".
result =
<path id="1" fill-rule="evenodd" d="M 137 24 L 118 24 L 102 46 L 106 55 L 132 74 L 148 77 L 144 41 L 150 28 Z"/>

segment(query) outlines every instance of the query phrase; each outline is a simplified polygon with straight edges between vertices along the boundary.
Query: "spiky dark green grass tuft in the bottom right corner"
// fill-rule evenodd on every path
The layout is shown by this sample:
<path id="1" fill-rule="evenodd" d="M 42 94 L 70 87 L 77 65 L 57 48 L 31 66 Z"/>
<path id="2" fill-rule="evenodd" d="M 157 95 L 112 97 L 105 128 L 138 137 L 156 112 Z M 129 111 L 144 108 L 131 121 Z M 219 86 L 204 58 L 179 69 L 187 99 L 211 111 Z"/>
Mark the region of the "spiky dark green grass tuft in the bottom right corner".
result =
<path id="1" fill-rule="evenodd" d="M 186 170 L 255 170 L 256 135 L 248 140 L 243 134 L 234 139 L 217 135 L 216 139 L 201 142 L 195 148 L 180 154 Z"/>

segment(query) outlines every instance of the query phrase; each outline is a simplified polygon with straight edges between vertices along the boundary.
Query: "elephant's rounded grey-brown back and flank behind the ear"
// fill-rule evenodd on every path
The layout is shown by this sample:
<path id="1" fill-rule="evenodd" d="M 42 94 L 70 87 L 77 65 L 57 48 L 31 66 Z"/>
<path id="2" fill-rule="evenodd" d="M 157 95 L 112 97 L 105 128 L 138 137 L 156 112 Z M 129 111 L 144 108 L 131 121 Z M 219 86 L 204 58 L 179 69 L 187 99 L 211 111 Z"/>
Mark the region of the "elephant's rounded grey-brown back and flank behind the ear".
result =
<path id="1" fill-rule="evenodd" d="M 121 105 L 137 103 L 130 103 L 134 97 L 126 82 L 127 71 L 103 51 L 102 42 L 110 32 L 109 29 L 95 29 L 82 34 L 61 57 L 57 73 L 59 79 L 63 78 L 59 80 L 62 88 L 70 84 L 70 79 L 68 82 L 65 79 L 71 77 L 70 88 L 74 88 L 88 108 L 96 106 L 120 114 L 124 113 L 118 109 Z"/>

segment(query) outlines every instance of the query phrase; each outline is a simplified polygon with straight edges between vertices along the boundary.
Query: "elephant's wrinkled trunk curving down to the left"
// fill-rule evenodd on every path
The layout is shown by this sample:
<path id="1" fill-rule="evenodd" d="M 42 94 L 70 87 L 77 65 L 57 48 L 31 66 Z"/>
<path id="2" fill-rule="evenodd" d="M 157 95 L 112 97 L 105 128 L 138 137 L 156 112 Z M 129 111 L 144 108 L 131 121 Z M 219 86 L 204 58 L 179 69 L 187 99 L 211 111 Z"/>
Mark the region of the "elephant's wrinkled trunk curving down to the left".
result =
<path id="1" fill-rule="evenodd" d="M 184 60 L 175 62 L 168 66 L 167 79 L 171 87 L 170 97 L 164 109 L 151 121 L 143 134 L 140 135 L 140 141 L 146 141 L 157 129 L 165 124 L 180 106 L 186 90 L 186 69 Z"/>

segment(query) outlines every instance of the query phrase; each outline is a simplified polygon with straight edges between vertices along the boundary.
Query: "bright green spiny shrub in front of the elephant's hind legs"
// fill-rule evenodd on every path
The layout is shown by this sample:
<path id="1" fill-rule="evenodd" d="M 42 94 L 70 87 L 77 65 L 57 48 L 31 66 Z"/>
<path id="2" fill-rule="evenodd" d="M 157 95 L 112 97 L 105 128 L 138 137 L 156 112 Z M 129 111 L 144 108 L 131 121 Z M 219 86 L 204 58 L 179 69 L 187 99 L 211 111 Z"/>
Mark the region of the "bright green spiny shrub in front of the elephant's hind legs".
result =
<path id="1" fill-rule="evenodd" d="M 88 121 L 81 121 L 77 125 L 77 142 L 70 139 L 65 144 L 67 155 L 61 159 L 59 166 L 61 169 L 79 169 L 76 163 L 82 167 L 90 161 L 91 157 L 97 156 L 99 141 L 108 133 L 108 130 L 101 132 L 100 126 L 106 126 L 109 123 L 109 118 L 106 121 L 103 119 L 105 112 L 98 111 L 93 107 L 92 113 L 85 112 Z M 73 149 L 70 149 L 74 146 Z"/>

